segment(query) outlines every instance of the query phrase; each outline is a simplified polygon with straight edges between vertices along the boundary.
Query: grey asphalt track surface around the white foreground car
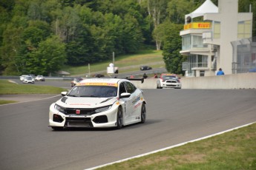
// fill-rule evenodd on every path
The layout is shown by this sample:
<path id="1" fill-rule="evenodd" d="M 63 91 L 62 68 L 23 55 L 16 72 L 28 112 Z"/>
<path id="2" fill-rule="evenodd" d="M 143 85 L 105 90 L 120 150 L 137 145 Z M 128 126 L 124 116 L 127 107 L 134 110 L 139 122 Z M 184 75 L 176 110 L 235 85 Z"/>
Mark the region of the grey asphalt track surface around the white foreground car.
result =
<path id="1" fill-rule="evenodd" d="M 52 131 L 60 96 L 0 106 L 1 169 L 89 169 L 256 121 L 255 89 L 144 89 L 144 124 Z"/>

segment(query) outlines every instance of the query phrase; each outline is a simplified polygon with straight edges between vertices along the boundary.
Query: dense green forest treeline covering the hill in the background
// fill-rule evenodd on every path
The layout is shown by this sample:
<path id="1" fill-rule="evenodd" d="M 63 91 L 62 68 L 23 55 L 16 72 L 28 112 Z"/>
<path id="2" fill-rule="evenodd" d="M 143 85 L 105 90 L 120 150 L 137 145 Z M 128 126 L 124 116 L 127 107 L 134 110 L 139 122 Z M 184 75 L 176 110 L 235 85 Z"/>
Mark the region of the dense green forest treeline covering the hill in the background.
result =
<path id="1" fill-rule="evenodd" d="M 181 73 L 179 32 L 203 1 L 1 0 L 0 74 L 50 75 L 64 64 L 92 64 L 145 46 L 163 50 L 168 71 Z M 254 0 L 239 4 L 240 12 L 249 4 L 256 11 Z"/>

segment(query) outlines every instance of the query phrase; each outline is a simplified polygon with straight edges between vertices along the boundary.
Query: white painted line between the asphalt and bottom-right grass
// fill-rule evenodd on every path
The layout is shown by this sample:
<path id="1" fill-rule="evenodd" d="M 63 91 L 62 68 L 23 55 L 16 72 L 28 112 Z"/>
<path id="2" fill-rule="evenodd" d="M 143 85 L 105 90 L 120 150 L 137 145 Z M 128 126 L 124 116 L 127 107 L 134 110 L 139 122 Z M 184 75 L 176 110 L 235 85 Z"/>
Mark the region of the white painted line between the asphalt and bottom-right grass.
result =
<path id="1" fill-rule="evenodd" d="M 231 131 L 233 131 L 233 130 L 235 130 L 235 129 L 240 129 L 240 128 L 243 128 L 243 127 L 252 125 L 252 124 L 254 124 L 254 123 L 256 123 L 256 122 L 248 123 L 248 124 L 245 124 L 245 125 L 242 125 L 242 126 L 237 126 L 237 127 L 235 127 L 235 128 L 228 129 L 228 130 L 223 131 L 223 132 L 217 132 L 217 133 L 215 133 L 215 134 L 208 135 L 208 136 L 205 136 L 205 137 L 200 137 L 200 138 L 197 138 L 197 139 L 194 139 L 194 140 L 190 140 L 190 141 L 188 141 L 188 142 L 179 143 L 179 144 L 174 145 L 174 146 L 168 146 L 168 147 L 165 147 L 165 148 L 163 148 L 163 149 L 158 149 L 158 150 L 155 150 L 155 151 L 152 151 L 152 152 L 147 152 L 147 153 L 145 153 L 145 154 L 139 154 L 139 155 L 134 156 L 134 157 L 128 157 L 128 158 L 125 158 L 125 159 L 123 159 L 123 160 L 117 160 L 117 161 L 114 161 L 114 162 L 112 162 L 112 163 L 106 163 L 106 164 L 104 164 L 104 165 L 95 166 L 95 167 L 92 167 L 92 168 L 89 168 L 89 169 L 85 169 L 85 170 L 99 169 L 99 168 L 102 168 L 102 167 L 104 167 L 104 166 L 113 165 L 114 163 L 122 163 L 122 162 L 124 162 L 124 161 L 131 160 L 131 159 L 134 159 L 134 158 L 137 158 L 137 157 L 144 157 L 144 156 L 146 156 L 146 155 L 148 155 L 148 154 L 154 154 L 154 153 L 157 153 L 157 152 L 162 152 L 162 151 L 165 151 L 165 150 L 168 150 L 168 149 L 172 149 L 172 148 L 175 148 L 175 147 L 178 147 L 178 146 L 186 145 L 187 143 L 196 142 L 196 141 L 198 141 L 198 140 L 204 140 L 204 139 L 206 139 L 206 138 L 214 137 L 214 136 L 217 136 L 217 135 L 221 135 L 221 134 L 226 133 L 226 132 L 231 132 Z"/>

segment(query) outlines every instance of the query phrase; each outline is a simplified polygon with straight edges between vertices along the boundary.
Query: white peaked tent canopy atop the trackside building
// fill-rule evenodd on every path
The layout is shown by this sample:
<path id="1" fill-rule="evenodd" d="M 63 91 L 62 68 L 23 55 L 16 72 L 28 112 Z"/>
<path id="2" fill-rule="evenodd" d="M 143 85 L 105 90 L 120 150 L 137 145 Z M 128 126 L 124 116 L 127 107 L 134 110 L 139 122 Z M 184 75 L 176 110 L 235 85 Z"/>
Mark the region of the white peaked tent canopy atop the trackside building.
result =
<path id="1" fill-rule="evenodd" d="M 218 13 L 218 7 L 212 3 L 211 0 L 206 0 L 197 10 L 194 10 L 192 13 L 189 13 L 185 16 L 185 21 L 188 16 L 191 18 L 196 18 L 198 16 L 203 16 L 205 13 Z"/>

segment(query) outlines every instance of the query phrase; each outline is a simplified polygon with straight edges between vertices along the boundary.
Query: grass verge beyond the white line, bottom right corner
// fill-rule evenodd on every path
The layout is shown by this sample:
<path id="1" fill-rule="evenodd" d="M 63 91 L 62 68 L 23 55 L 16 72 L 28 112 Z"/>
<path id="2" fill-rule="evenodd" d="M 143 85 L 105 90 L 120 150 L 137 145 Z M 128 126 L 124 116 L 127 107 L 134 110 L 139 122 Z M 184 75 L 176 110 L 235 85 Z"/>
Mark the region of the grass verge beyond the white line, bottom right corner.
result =
<path id="1" fill-rule="evenodd" d="M 101 169 L 256 169 L 256 123 Z"/>

